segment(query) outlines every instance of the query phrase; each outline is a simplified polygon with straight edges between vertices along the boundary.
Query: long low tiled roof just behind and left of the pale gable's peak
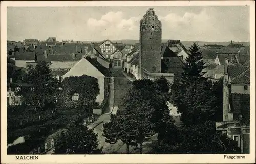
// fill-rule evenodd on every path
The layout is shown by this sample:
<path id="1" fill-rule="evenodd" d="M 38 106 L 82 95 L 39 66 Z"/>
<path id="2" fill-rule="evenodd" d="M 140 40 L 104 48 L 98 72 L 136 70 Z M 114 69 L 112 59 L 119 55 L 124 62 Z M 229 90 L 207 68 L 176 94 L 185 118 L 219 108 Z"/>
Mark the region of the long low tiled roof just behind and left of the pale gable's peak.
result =
<path id="1" fill-rule="evenodd" d="M 83 57 L 83 54 L 76 54 L 73 59 L 72 55 L 48 55 L 45 59 L 45 55 L 37 55 L 37 61 L 79 61 Z"/>

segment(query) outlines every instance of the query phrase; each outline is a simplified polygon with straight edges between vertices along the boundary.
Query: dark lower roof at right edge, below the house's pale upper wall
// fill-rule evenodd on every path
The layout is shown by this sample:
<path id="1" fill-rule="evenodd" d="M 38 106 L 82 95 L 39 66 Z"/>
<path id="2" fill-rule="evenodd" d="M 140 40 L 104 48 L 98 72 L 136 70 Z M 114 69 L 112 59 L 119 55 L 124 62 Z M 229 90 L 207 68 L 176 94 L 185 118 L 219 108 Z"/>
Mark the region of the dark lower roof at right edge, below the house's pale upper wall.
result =
<path id="1" fill-rule="evenodd" d="M 249 116 L 250 94 L 232 94 L 230 106 L 231 111 L 234 113 L 235 120 L 239 120 L 239 115 L 242 115 L 243 117 Z"/>

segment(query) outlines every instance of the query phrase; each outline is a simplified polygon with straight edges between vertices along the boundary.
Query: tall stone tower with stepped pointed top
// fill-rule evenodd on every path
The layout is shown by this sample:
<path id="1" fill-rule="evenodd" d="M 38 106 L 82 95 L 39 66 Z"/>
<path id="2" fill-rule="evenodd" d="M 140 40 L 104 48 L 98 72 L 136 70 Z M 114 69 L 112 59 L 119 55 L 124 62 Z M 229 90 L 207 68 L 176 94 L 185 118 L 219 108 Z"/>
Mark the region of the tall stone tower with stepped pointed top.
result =
<path id="1" fill-rule="evenodd" d="M 139 78 L 143 69 L 151 73 L 161 72 L 162 24 L 155 11 L 150 8 L 140 20 L 140 63 Z"/>

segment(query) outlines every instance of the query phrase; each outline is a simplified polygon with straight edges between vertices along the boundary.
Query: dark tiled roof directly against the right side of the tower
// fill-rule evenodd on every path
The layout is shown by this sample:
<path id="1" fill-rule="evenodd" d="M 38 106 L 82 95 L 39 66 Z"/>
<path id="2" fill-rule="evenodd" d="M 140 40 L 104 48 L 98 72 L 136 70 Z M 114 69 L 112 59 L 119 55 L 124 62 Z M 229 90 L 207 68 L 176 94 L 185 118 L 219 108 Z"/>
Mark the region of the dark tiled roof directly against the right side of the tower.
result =
<path id="1" fill-rule="evenodd" d="M 164 73 L 180 73 L 183 71 L 184 63 L 178 57 L 169 57 L 167 60 L 162 60 L 162 72 Z"/>

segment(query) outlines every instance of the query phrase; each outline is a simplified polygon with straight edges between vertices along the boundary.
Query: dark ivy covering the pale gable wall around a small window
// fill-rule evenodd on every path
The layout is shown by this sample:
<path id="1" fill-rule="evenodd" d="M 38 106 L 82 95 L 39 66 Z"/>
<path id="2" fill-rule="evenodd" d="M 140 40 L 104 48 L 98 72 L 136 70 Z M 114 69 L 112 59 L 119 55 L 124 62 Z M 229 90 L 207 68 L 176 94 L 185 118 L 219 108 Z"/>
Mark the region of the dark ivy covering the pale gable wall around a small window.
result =
<path id="1" fill-rule="evenodd" d="M 78 101 L 72 100 L 72 95 L 78 93 Z M 99 94 L 98 79 L 83 75 L 68 77 L 63 81 L 63 103 L 67 107 L 86 109 L 88 112 L 94 105 Z M 66 102 L 66 103 L 65 103 Z"/>

